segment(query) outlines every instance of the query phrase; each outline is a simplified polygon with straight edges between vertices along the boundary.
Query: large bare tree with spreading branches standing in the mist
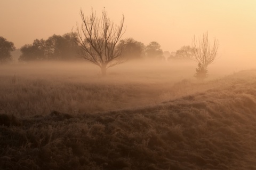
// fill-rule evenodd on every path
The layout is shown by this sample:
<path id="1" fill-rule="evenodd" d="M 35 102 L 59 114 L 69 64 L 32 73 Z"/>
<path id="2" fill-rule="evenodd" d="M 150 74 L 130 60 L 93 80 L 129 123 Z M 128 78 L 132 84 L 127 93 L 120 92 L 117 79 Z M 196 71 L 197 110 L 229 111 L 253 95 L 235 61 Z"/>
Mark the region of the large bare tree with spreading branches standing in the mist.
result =
<path id="1" fill-rule="evenodd" d="M 124 15 L 119 25 L 114 25 L 105 10 L 102 11 L 102 17 L 96 17 L 96 12 L 85 17 L 80 10 L 82 25 L 76 26 L 74 34 L 75 41 L 81 52 L 82 58 L 96 64 L 101 68 L 102 76 L 106 76 L 107 68 L 116 64 L 125 62 L 121 55 L 121 49 L 116 48 L 118 41 L 125 33 Z"/>

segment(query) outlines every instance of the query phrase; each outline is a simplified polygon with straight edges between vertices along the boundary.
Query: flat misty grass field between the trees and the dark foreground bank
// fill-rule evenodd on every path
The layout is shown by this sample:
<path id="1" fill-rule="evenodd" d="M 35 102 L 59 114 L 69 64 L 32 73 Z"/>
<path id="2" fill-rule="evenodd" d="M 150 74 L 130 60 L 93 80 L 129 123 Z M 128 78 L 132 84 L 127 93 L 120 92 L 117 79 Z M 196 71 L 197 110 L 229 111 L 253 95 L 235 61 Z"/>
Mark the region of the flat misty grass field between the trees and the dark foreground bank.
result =
<path id="1" fill-rule="evenodd" d="M 194 82 L 194 68 L 189 64 L 158 64 L 120 65 L 109 69 L 107 78 L 85 63 L 3 66 L 0 111 L 22 117 L 51 110 L 70 114 L 113 111 L 151 106 L 211 88 Z"/>

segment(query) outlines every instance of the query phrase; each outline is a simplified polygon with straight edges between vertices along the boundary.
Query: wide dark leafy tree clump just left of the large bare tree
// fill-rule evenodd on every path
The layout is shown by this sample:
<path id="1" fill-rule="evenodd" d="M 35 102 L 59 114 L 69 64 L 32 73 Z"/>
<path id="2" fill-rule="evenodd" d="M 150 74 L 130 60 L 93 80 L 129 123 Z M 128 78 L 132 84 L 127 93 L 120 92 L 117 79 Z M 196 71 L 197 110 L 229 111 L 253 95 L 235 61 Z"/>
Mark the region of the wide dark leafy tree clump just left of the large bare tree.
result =
<path id="1" fill-rule="evenodd" d="M 20 48 L 20 61 L 76 60 L 78 47 L 71 33 L 52 35 L 48 39 L 35 39 L 33 44 Z"/>

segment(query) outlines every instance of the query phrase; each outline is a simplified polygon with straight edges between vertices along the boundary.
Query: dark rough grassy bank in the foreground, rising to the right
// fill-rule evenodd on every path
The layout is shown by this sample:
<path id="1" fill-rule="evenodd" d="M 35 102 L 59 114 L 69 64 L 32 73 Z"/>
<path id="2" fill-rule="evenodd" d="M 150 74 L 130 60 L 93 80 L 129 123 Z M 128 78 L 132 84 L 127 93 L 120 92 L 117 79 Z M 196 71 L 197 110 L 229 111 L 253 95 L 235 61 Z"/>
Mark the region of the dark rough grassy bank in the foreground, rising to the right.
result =
<path id="1" fill-rule="evenodd" d="M 255 76 L 190 82 L 151 107 L 1 115 L 1 169 L 256 169 Z"/>

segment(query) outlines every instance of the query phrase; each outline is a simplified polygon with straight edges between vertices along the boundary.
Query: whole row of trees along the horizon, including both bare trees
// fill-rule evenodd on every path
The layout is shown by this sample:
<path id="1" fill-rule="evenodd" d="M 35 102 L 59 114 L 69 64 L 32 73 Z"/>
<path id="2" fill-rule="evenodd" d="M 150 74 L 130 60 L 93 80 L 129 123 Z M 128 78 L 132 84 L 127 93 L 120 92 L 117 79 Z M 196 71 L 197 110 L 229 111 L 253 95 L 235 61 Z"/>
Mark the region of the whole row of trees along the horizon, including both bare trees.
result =
<path id="1" fill-rule="evenodd" d="M 214 39 L 211 45 L 208 33 L 203 38 L 194 36 L 192 47 L 182 46 L 176 52 L 161 49 L 157 42 L 144 45 L 133 38 L 121 39 L 125 33 L 124 15 L 119 23 L 108 18 L 105 10 L 98 18 L 92 10 L 91 15 L 85 16 L 80 11 L 82 24 L 71 33 L 52 35 L 48 39 L 35 39 L 33 44 L 26 44 L 20 48 L 19 61 L 52 61 L 76 60 L 78 56 L 100 67 L 102 76 L 106 70 L 116 64 L 134 59 L 151 60 L 195 60 L 198 63 L 195 77 L 207 77 L 207 66 L 211 64 L 218 51 L 218 40 Z M 11 51 L 15 50 L 14 44 L 0 37 L 0 62 L 12 60 Z"/>

